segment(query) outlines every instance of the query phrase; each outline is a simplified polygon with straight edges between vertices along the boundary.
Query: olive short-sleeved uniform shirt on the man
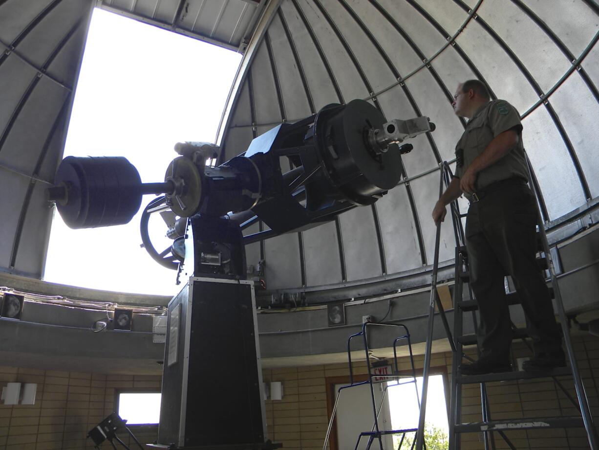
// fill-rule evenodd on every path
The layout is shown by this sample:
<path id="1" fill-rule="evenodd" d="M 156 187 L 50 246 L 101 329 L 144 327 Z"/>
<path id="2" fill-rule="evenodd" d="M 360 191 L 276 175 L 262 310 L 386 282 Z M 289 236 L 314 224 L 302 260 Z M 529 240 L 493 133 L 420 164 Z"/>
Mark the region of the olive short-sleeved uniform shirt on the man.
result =
<path id="1" fill-rule="evenodd" d="M 518 133 L 518 144 L 503 158 L 477 173 L 475 188 L 482 191 L 490 184 L 507 178 L 522 178 L 528 181 L 528 168 L 522 145 L 522 124 L 515 107 L 505 100 L 492 100 L 483 104 L 468 121 L 464 134 L 455 146 L 455 176 L 461 178 L 474 158 L 480 155 L 489 143 L 507 130 Z M 464 193 L 468 200 L 470 194 Z"/>

